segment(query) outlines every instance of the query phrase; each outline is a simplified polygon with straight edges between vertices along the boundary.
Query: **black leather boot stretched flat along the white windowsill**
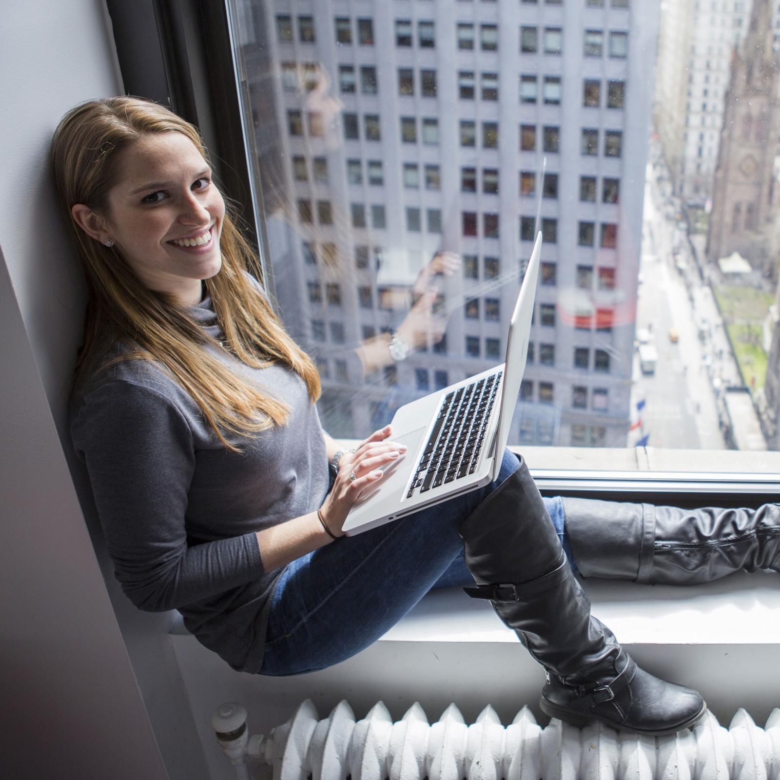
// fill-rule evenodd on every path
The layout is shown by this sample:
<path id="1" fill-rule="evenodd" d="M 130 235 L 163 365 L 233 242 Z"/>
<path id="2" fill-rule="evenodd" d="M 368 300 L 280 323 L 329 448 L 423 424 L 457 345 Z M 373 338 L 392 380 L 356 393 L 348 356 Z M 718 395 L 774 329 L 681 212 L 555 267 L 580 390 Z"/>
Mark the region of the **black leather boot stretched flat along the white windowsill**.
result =
<path id="1" fill-rule="evenodd" d="M 780 572 L 780 505 L 678 509 L 563 498 L 566 534 L 584 577 L 690 585 L 739 569 Z"/>

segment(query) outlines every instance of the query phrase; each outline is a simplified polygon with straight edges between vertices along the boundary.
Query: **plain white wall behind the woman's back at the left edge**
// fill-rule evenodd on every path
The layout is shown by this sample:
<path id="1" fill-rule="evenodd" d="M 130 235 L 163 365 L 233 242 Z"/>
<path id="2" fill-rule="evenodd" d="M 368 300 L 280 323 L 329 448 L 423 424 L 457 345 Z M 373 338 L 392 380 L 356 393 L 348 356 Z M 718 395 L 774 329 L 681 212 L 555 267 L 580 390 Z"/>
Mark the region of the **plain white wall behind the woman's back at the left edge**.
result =
<path id="1" fill-rule="evenodd" d="M 104 2 L 4 3 L 0 73 L 0 776 L 202 780 L 170 616 L 115 585 L 67 435 L 84 294 L 48 147 L 122 92 Z"/>

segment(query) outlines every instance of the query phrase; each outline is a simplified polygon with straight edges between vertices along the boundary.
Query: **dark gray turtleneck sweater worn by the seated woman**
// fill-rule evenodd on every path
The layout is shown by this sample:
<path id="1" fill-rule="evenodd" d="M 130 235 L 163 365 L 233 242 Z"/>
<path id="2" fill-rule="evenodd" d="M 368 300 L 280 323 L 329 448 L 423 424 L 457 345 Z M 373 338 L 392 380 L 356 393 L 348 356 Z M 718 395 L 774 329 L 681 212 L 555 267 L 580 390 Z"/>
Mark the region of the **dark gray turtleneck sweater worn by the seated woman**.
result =
<path id="1" fill-rule="evenodd" d="M 190 313 L 219 338 L 208 296 Z M 328 459 L 298 374 L 246 366 L 227 350 L 218 356 L 284 399 L 289 424 L 229 438 L 243 450 L 230 452 L 158 364 L 130 360 L 74 395 L 71 435 L 129 599 L 152 612 L 178 609 L 202 644 L 233 668 L 258 672 L 282 569 L 264 569 L 255 532 L 317 509 Z"/>

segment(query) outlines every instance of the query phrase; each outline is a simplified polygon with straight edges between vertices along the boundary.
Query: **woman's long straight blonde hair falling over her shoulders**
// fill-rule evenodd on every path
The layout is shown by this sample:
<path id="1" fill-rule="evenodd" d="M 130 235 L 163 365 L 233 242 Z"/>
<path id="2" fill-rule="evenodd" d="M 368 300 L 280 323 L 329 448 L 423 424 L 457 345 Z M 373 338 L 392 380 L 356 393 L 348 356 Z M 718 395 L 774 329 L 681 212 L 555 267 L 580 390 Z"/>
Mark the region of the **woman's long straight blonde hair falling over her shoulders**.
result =
<path id="1" fill-rule="evenodd" d="M 284 425 L 289 406 L 226 370 L 203 349 L 207 343 L 216 346 L 216 340 L 183 307 L 171 296 L 148 289 L 115 250 L 87 236 L 70 216 L 74 204 L 106 214 L 122 149 L 144 133 L 171 132 L 183 133 L 208 161 L 193 125 L 168 108 L 138 97 L 109 97 L 78 105 L 55 132 L 51 143 L 55 185 L 87 280 L 87 314 L 74 388 L 123 360 L 156 361 L 190 393 L 225 447 L 239 452 L 227 435 L 246 436 Z M 225 207 L 222 270 L 204 282 L 225 342 L 249 366 L 289 367 L 306 382 L 315 402 L 321 388 L 314 361 L 293 342 L 268 301 L 253 288 L 247 272 L 254 271 L 259 278 L 257 254 L 236 227 L 235 205 L 226 200 Z M 116 340 L 129 350 L 108 359 Z"/>

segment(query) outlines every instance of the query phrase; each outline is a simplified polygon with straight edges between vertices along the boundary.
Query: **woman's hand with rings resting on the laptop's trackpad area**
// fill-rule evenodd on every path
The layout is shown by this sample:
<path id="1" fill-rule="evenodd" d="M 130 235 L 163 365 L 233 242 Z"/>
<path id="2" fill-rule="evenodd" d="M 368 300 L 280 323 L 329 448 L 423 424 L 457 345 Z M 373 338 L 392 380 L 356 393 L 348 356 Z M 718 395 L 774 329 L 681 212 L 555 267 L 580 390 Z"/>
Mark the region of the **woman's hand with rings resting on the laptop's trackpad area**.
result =
<path id="1" fill-rule="evenodd" d="M 349 510 L 363 489 L 381 479 L 381 466 L 387 466 L 406 452 L 406 445 L 386 441 L 391 433 L 389 425 L 374 431 L 355 452 L 345 452 L 339 460 L 339 473 L 320 509 L 325 525 L 334 536 L 343 536 L 341 529 Z M 350 479 L 352 474 L 354 480 Z"/>

